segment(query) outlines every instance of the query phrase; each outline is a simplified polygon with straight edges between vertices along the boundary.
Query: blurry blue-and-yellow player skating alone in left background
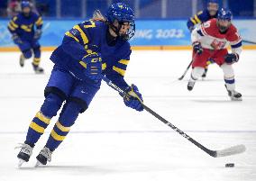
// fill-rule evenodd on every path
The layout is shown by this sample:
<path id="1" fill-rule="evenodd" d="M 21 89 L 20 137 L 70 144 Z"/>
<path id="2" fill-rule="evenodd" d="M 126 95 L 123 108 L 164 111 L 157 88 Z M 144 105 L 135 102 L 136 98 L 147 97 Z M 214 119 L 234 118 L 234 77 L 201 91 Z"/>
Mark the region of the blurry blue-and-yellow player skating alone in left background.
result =
<path id="1" fill-rule="evenodd" d="M 43 73 L 39 67 L 41 61 L 41 38 L 42 19 L 41 16 L 32 12 L 32 5 L 28 1 L 21 2 L 22 12 L 12 18 L 8 24 L 8 30 L 12 33 L 14 43 L 22 51 L 20 66 L 24 66 L 24 60 L 32 58 L 32 67 L 37 74 Z M 36 30 L 34 30 L 36 26 Z"/>

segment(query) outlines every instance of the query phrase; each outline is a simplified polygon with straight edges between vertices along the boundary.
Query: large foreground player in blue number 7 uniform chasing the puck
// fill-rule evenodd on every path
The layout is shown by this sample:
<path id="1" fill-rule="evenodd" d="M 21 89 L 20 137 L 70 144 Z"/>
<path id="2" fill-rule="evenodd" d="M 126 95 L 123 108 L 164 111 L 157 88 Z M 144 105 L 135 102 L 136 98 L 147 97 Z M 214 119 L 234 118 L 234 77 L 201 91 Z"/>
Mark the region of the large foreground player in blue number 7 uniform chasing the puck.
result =
<path id="1" fill-rule="evenodd" d="M 50 161 L 51 153 L 65 139 L 78 114 L 87 110 L 100 88 L 102 75 L 131 95 L 123 97 L 126 106 L 143 111 L 137 86 L 128 86 L 123 79 L 132 53 L 128 41 L 135 32 L 133 10 L 122 3 L 113 4 L 105 19 L 75 25 L 51 54 L 55 65 L 45 88 L 44 103 L 33 118 L 17 156 L 20 166 L 29 161 L 35 143 L 65 102 L 49 140 L 36 157 L 39 165 Z"/>

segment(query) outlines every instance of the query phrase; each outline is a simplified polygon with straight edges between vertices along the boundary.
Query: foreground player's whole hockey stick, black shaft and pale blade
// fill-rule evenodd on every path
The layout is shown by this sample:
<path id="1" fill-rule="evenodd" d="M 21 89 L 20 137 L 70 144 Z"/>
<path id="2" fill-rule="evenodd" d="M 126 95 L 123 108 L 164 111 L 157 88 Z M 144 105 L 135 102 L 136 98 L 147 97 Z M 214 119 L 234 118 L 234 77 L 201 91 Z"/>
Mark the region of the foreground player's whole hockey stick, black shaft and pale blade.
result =
<path id="1" fill-rule="evenodd" d="M 131 96 L 128 95 L 126 92 L 124 92 L 120 87 L 114 85 L 111 80 L 109 80 L 106 77 L 102 77 L 102 79 L 105 81 L 105 83 L 112 87 L 114 90 L 120 93 L 122 96 Z M 168 125 L 172 130 L 178 132 L 181 136 L 183 136 L 185 139 L 189 140 L 193 144 L 195 144 L 199 149 L 202 149 L 205 151 L 208 155 L 214 157 L 214 158 L 219 158 L 219 157 L 226 157 L 230 155 L 235 155 L 239 154 L 245 151 L 245 146 L 244 145 L 236 145 L 227 149 L 221 149 L 221 150 L 211 150 L 207 149 L 205 146 L 197 142 L 197 140 L 192 139 L 190 136 L 187 135 L 184 131 L 179 130 L 175 125 L 172 123 L 168 122 L 166 119 L 160 116 L 160 114 L 155 113 L 151 108 L 149 108 L 147 105 L 142 103 L 143 108 L 148 112 L 151 113 L 154 117 L 158 118 L 161 122 L 165 123 Z"/>

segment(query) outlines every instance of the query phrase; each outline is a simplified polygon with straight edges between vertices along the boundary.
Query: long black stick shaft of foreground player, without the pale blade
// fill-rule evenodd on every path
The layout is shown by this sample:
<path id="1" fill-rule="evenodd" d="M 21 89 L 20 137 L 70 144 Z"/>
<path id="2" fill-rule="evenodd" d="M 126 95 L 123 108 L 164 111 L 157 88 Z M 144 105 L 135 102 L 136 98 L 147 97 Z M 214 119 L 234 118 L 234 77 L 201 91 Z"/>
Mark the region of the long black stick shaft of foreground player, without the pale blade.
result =
<path id="1" fill-rule="evenodd" d="M 121 95 L 125 96 L 128 95 L 127 93 L 125 93 L 121 88 L 119 88 L 118 86 L 115 86 L 111 80 L 109 80 L 106 77 L 102 78 L 105 83 L 114 88 L 114 90 L 116 90 L 117 92 L 119 92 Z M 166 125 L 168 125 L 172 130 L 178 132 L 181 136 L 183 136 L 185 139 L 189 140 L 190 142 L 192 142 L 193 144 L 195 144 L 199 149 L 204 150 L 208 155 L 212 156 L 212 157 L 216 157 L 216 151 L 214 150 L 210 150 L 207 149 L 205 146 L 203 146 L 202 144 L 200 144 L 199 142 L 197 142 L 197 140 L 192 139 L 190 136 L 187 135 L 187 133 L 185 133 L 184 131 L 179 130 L 175 125 L 173 125 L 172 123 L 168 122 L 166 119 L 164 119 L 163 117 L 160 116 L 160 114 L 155 113 L 153 110 L 151 110 L 151 108 L 149 108 L 147 105 L 142 103 L 143 108 L 148 112 L 151 113 L 151 115 L 153 115 L 154 117 L 158 118 L 161 122 L 165 123 Z"/>

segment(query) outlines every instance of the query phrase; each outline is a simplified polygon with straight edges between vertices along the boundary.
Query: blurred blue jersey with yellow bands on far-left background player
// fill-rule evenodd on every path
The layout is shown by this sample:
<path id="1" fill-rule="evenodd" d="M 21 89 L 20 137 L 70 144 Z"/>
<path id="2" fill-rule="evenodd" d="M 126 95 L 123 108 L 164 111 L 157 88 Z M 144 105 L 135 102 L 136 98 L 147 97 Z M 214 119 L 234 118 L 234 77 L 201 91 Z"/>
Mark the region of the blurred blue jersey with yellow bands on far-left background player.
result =
<path id="1" fill-rule="evenodd" d="M 8 30 L 11 33 L 17 33 L 22 40 L 30 41 L 34 36 L 34 26 L 37 29 L 41 29 L 42 23 L 41 16 L 38 14 L 31 12 L 26 17 L 20 13 L 12 18 L 8 24 Z"/>

